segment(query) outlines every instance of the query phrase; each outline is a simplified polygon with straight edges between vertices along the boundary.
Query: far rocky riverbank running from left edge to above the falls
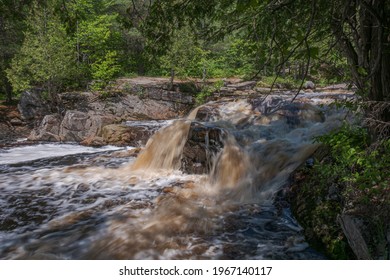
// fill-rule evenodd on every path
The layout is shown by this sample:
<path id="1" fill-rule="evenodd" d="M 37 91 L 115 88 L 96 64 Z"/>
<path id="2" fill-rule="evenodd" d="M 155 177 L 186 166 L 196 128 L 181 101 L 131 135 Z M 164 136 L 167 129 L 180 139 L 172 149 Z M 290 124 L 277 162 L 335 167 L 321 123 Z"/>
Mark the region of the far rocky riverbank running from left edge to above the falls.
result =
<path id="1" fill-rule="evenodd" d="M 151 133 L 144 126 L 130 128 L 126 121 L 183 118 L 199 105 L 200 99 L 203 102 L 218 102 L 223 98 L 256 101 L 270 96 L 268 100 L 279 102 L 275 96 L 292 99 L 296 95 L 296 91 L 281 86 L 271 91 L 255 81 L 226 79 L 211 81 L 210 84 L 218 86 L 207 86 L 205 94 L 202 91 L 205 85 L 197 81 L 178 81 L 171 87 L 165 78 L 118 79 L 101 92 L 61 93 L 55 107 L 43 100 L 39 92 L 25 92 L 20 98 L 18 119 L 24 129 L 19 130 L 23 133 L 15 136 L 7 134 L 3 141 L 15 141 L 18 137 L 28 136 L 29 141 L 37 142 L 142 146 Z M 297 95 L 297 102 L 327 105 L 335 99 L 352 96 L 345 84 L 318 89 L 312 84 L 310 86 Z M 268 101 L 261 102 L 263 107 L 274 105 Z"/>

